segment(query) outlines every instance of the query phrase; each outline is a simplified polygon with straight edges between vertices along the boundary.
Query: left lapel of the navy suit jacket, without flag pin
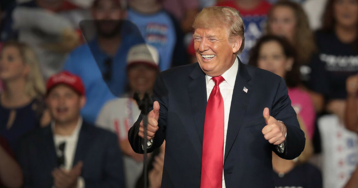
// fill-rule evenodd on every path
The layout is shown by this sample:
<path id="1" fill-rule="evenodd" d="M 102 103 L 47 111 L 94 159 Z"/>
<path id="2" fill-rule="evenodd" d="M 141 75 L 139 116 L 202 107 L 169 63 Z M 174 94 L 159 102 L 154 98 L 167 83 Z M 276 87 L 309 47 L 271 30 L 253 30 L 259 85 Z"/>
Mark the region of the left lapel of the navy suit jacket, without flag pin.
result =
<path id="1" fill-rule="evenodd" d="M 197 64 L 189 76 L 192 79 L 188 84 L 190 105 L 192 107 L 195 127 L 197 129 L 200 140 L 200 148 L 198 150 L 201 154 L 204 134 L 205 110 L 207 105 L 205 73 L 199 67 L 199 64 Z"/>

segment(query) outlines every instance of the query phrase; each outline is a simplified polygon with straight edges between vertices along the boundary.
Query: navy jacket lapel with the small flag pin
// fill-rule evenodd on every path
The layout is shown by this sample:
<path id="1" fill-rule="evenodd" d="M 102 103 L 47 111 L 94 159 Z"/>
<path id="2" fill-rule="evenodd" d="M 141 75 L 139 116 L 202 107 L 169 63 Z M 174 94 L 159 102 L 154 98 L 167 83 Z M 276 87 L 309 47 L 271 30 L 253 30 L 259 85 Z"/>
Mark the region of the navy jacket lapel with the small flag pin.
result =
<path id="1" fill-rule="evenodd" d="M 250 79 L 251 77 L 248 74 L 245 65 L 241 63 L 239 59 L 239 68 L 238 73 L 236 75 L 234 91 L 232 94 L 230 106 L 224 162 L 232 148 L 236 136 L 241 128 L 242 120 L 245 116 L 246 108 L 252 91 L 251 85 L 248 84 L 248 81 L 250 81 Z M 244 87 L 247 89 L 246 92 L 243 91 Z"/>

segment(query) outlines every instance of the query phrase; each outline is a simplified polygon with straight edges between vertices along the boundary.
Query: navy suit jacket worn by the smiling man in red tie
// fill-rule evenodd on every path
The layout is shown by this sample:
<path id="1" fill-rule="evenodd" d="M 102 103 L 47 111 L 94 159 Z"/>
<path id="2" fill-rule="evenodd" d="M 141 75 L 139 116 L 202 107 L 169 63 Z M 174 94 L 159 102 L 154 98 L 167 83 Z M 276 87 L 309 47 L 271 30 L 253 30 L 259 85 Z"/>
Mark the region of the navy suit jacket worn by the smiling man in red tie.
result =
<path id="1" fill-rule="evenodd" d="M 156 80 L 153 98 L 160 104 L 159 130 L 148 151 L 166 140 L 162 188 L 199 188 L 207 105 L 205 73 L 198 63 L 164 71 Z M 265 107 L 287 127 L 284 153 L 279 153 L 261 132 L 266 125 L 262 115 Z M 128 134 L 137 153 L 143 152 L 138 136 L 141 120 L 142 116 Z M 305 136 L 284 79 L 239 61 L 224 153 L 226 188 L 274 188 L 272 151 L 281 158 L 294 159 L 304 146 Z"/>

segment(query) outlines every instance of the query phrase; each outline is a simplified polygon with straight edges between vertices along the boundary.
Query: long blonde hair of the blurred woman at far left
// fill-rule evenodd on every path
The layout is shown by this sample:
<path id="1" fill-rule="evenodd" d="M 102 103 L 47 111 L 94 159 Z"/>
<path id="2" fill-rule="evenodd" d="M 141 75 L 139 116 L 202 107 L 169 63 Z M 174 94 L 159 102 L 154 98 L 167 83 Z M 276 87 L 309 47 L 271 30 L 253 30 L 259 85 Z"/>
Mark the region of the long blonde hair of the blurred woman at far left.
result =
<path id="1" fill-rule="evenodd" d="M 28 65 L 30 72 L 26 76 L 25 92 L 31 98 L 42 97 L 45 95 L 45 83 L 40 72 L 37 54 L 25 43 L 9 41 L 4 43 L 2 51 L 8 47 L 18 49 L 20 57 L 24 64 Z"/>

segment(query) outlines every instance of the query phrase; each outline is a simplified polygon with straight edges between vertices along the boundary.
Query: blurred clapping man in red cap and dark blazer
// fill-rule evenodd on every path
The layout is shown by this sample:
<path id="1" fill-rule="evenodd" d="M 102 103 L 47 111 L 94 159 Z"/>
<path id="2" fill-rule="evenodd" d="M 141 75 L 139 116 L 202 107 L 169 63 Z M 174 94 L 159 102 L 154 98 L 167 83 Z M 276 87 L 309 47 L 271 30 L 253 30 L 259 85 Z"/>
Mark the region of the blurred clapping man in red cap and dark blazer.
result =
<path id="1" fill-rule="evenodd" d="M 52 122 L 20 141 L 18 159 L 26 188 L 124 188 L 117 136 L 83 121 L 84 86 L 69 72 L 47 82 Z"/>

